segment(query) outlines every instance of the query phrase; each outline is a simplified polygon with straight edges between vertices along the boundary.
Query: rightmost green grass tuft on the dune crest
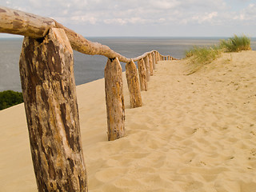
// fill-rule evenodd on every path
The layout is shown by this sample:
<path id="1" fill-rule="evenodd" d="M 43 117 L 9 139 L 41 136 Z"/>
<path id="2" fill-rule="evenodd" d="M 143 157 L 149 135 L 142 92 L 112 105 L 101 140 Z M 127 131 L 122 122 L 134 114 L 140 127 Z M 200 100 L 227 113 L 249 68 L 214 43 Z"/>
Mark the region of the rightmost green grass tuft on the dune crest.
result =
<path id="1" fill-rule="evenodd" d="M 237 36 L 234 35 L 233 38 L 228 40 L 222 39 L 220 42 L 220 47 L 226 52 L 238 52 L 241 50 L 251 50 L 250 48 L 250 38 L 246 35 Z"/>

